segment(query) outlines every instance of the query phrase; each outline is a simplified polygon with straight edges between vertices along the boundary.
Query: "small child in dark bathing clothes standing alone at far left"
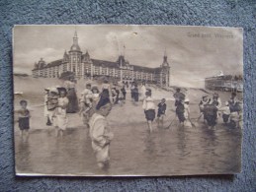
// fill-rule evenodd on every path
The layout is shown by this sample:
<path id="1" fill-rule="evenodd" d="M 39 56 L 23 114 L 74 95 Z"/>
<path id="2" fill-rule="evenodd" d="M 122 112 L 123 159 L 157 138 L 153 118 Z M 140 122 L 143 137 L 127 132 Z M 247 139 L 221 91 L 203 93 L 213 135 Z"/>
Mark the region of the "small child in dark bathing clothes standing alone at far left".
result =
<path id="1" fill-rule="evenodd" d="M 28 101 L 21 100 L 21 109 L 18 110 L 18 117 L 19 117 L 19 128 L 21 131 L 21 137 L 25 135 L 26 140 L 29 138 L 29 129 L 30 129 L 30 111 L 27 109 Z"/>

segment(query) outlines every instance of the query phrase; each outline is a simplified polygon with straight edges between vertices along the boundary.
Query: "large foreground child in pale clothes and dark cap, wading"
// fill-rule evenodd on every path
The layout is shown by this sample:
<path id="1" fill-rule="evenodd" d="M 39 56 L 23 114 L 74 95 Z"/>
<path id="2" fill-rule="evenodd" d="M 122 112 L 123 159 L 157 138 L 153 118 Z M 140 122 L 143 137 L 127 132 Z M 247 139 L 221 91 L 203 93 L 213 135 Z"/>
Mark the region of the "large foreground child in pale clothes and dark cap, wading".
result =
<path id="1" fill-rule="evenodd" d="M 89 121 L 92 148 L 98 166 L 102 169 L 107 169 L 110 163 L 110 143 L 114 137 L 106 119 L 112 109 L 109 97 L 101 97 L 96 109 Z"/>

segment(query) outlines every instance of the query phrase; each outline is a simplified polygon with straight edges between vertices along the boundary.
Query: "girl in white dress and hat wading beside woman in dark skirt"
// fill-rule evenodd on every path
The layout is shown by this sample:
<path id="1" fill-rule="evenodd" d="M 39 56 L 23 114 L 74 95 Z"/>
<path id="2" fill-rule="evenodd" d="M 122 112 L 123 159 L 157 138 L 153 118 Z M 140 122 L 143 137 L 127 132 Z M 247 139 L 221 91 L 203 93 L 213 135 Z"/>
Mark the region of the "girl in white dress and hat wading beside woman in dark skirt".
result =
<path id="1" fill-rule="evenodd" d="M 68 98 L 67 98 L 67 92 L 65 88 L 58 88 L 59 97 L 57 99 L 57 107 L 54 110 L 53 113 L 53 124 L 55 127 L 55 136 L 58 137 L 58 134 L 60 134 L 60 137 L 63 136 L 63 132 L 66 130 L 67 127 L 67 116 L 66 116 L 66 109 L 68 105 Z"/>

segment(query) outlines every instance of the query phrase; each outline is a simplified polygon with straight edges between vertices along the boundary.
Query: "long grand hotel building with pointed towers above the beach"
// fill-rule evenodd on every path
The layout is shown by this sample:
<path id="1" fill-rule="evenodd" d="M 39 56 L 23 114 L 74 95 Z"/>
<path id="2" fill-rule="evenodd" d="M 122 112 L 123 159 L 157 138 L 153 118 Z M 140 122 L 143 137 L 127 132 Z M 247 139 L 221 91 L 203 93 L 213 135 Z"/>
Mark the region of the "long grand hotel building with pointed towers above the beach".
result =
<path id="1" fill-rule="evenodd" d="M 81 51 L 76 32 L 70 50 L 68 53 L 64 52 L 62 59 L 45 63 L 42 58 L 35 63 L 32 70 L 35 78 L 58 78 L 67 71 L 73 72 L 77 79 L 104 76 L 119 81 L 145 81 L 161 87 L 168 87 L 170 81 L 170 65 L 166 53 L 163 56 L 163 63 L 157 68 L 131 65 L 124 55 L 120 55 L 117 61 L 93 59 L 88 51 Z"/>

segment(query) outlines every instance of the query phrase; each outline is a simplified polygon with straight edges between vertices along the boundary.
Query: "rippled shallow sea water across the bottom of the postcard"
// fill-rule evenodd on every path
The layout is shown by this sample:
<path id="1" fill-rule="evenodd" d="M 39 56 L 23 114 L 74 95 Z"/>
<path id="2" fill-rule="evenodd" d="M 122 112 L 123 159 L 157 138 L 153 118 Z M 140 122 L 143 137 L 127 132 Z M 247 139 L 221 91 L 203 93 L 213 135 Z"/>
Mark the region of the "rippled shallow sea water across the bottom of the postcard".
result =
<path id="1" fill-rule="evenodd" d="M 17 173 L 70 175 L 184 175 L 233 173 L 240 170 L 241 131 L 219 124 L 209 130 L 156 128 L 149 134 L 145 123 L 111 125 L 111 166 L 97 167 L 84 127 L 69 128 L 63 138 L 54 130 L 34 130 L 28 141 L 15 133 Z"/>

